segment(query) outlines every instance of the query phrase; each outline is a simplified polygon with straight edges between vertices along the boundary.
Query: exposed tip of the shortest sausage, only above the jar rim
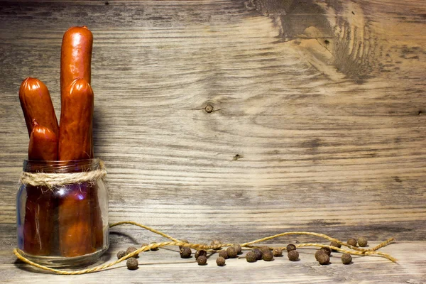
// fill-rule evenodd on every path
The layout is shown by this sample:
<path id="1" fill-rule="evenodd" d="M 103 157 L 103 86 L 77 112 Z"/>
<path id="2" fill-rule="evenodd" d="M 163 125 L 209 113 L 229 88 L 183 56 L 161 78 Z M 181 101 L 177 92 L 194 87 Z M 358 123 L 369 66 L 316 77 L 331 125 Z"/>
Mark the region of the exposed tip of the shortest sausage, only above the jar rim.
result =
<path id="1" fill-rule="evenodd" d="M 33 131 L 28 145 L 28 160 L 58 160 L 58 138 L 45 126 L 33 119 Z"/>

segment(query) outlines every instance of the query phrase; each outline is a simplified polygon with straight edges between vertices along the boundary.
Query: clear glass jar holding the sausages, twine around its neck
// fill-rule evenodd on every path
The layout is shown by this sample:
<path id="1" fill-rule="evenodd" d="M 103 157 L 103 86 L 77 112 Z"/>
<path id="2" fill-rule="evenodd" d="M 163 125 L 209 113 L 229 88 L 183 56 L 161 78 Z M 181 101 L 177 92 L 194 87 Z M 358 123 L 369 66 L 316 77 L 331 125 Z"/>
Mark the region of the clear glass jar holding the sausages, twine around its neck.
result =
<path id="1" fill-rule="evenodd" d="M 18 248 L 26 258 L 50 267 L 87 266 L 108 249 L 108 196 L 97 175 L 100 164 L 99 159 L 24 161 L 23 174 L 42 180 L 21 177 L 16 198 Z M 76 173 L 83 177 L 72 175 L 67 182 Z M 52 177 L 52 184 L 43 183 Z"/>

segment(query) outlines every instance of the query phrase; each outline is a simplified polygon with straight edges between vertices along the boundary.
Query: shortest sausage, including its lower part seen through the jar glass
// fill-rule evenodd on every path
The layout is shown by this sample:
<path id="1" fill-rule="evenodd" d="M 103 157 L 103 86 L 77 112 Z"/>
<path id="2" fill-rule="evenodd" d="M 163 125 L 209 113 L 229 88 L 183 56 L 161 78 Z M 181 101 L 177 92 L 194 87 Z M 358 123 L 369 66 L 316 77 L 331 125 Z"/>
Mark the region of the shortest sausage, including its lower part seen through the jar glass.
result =
<path id="1" fill-rule="evenodd" d="M 58 160 L 58 138 L 35 119 L 32 124 L 29 160 Z M 23 249 L 35 256 L 49 255 L 53 244 L 53 211 L 55 199 L 45 187 L 26 187 L 25 217 L 23 222 Z"/>

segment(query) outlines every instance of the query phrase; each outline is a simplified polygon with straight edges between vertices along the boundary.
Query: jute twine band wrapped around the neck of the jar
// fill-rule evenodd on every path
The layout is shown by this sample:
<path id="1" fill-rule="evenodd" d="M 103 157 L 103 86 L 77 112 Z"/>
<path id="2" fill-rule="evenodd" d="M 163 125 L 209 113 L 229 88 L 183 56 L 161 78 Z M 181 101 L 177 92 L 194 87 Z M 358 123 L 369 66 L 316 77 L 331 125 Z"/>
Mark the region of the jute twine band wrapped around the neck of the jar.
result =
<path id="1" fill-rule="evenodd" d="M 56 185 L 94 182 L 107 175 L 104 162 L 99 160 L 99 169 L 81 173 L 28 173 L 22 172 L 19 182 L 23 185 L 44 186 L 52 189 Z"/>

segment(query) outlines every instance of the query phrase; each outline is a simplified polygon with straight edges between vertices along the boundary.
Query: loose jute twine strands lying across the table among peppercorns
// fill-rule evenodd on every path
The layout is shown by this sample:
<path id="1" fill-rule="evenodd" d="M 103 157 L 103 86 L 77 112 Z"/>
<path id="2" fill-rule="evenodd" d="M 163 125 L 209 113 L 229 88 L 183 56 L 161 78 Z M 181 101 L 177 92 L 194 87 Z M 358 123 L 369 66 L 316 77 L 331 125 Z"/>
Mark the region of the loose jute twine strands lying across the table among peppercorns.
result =
<path id="1" fill-rule="evenodd" d="M 129 253 L 126 256 L 123 256 L 122 258 L 120 258 L 116 261 L 113 261 L 111 263 L 106 263 L 106 264 L 103 264 L 101 266 L 95 266 L 93 268 L 87 268 L 87 269 L 83 269 L 83 270 L 79 270 L 79 271 L 65 271 L 65 270 L 60 270 L 60 269 L 49 268 L 47 266 L 42 266 L 38 263 L 30 261 L 28 258 L 23 256 L 23 252 L 20 249 L 14 249 L 13 253 L 15 253 L 16 257 L 19 258 L 24 263 L 28 263 L 31 266 L 35 266 L 35 267 L 43 269 L 45 271 L 50 271 L 50 272 L 62 274 L 62 275 L 77 275 L 77 274 L 85 274 L 85 273 L 104 271 L 107 268 L 110 268 L 111 266 L 115 266 L 117 263 L 121 263 L 121 261 L 125 261 L 127 258 L 131 258 L 133 256 L 136 256 L 138 253 L 141 253 L 142 251 L 149 251 L 150 249 L 160 248 L 160 247 L 163 247 L 163 246 L 188 246 L 191 249 L 204 249 L 204 250 L 207 250 L 209 252 L 214 252 L 214 251 L 217 251 L 218 249 L 221 249 L 222 247 L 234 245 L 234 244 L 217 244 L 217 245 L 214 245 L 214 246 L 206 246 L 206 245 L 202 245 L 202 244 L 185 243 L 183 241 L 180 241 L 178 239 L 173 238 L 173 236 L 169 236 L 168 234 L 164 234 L 163 232 L 157 231 L 157 230 L 155 230 L 155 229 L 153 229 L 149 226 L 145 226 L 143 224 L 138 224 L 136 222 L 130 222 L 130 221 L 124 221 L 124 222 L 118 222 L 118 223 L 110 224 L 109 227 L 111 228 L 113 226 L 119 226 L 119 225 L 122 225 L 122 224 L 131 224 L 131 225 L 135 225 L 135 226 L 140 226 L 143 229 L 146 229 L 148 231 L 152 231 L 153 233 L 159 234 L 160 236 L 164 236 L 165 238 L 170 239 L 171 241 L 165 241 L 165 242 L 162 242 L 162 243 L 155 243 L 155 244 L 149 244 L 148 246 L 142 246 L 141 249 L 137 249 L 136 251 L 133 251 L 132 253 Z M 383 243 L 379 244 L 378 246 L 373 247 L 372 249 L 364 249 L 364 248 L 359 248 L 357 246 L 351 246 L 349 244 L 344 243 L 343 241 L 339 241 L 338 239 L 334 239 L 331 236 L 327 236 L 327 235 L 324 235 L 324 234 L 317 234 L 317 233 L 312 233 L 312 232 L 309 232 L 309 231 L 288 231 L 288 232 L 276 234 L 276 235 L 273 235 L 273 236 L 267 236 L 267 237 L 262 238 L 262 239 L 257 239 L 255 241 L 249 241 L 247 243 L 241 244 L 241 247 L 252 248 L 252 247 L 256 247 L 256 246 L 253 246 L 253 245 L 261 243 L 262 241 L 268 241 L 268 240 L 271 240 L 271 239 L 275 239 L 275 238 L 278 238 L 278 236 L 289 236 L 289 235 L 318 236 L 320 238 L 327 239 L 328 241 L 335 241 L 335 242 L 337 242 L 337 244 L 340 244 L 342 246 L 346 246 L 350 250 L 340 249 L 340 248 L 337 248 L 336 246 L 327 246 L 327 245 L 324 245 L 324 244 L 315 244 L 315 243 L 297 244 L 296 245 L 297 248 L 302 248 L 302 247 L 305 247 L 305 246 L 316 246 L 316 247 L 320 247 L 320 248 L 326 247 L 326 248 L 329 248 L 329 249 L 334 249 L 336 251 L 340 251 L 342 253 L 349 253 L 349 254 L 356 255 L 356 256 L 380 256 L 380 257 L 383 257 L 383 258 L 387 258 L 388 260 L 393 261 L 394 263 L 396 263 L 396 261 L 397 261 L 395 258 L 390 256 L 388 253 L 383 253 L 381 251 L 377 251 L 378 249 L 383 248 L 383 246 L 387 246 L 388 244 L 391 244 L 391 242 L 394 241 L 393 238 L 388 239 L 387 241 L 383 241 Z M 270 248 L 270 249 L 273 249 L 273 248 Z M 285 247 L 283 247 L 281 249 L 284 250 Z"/>

